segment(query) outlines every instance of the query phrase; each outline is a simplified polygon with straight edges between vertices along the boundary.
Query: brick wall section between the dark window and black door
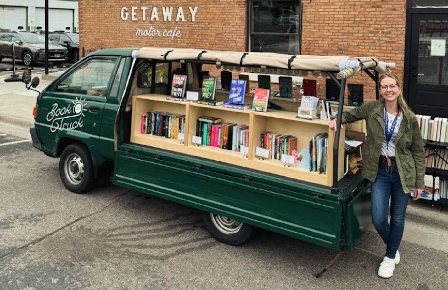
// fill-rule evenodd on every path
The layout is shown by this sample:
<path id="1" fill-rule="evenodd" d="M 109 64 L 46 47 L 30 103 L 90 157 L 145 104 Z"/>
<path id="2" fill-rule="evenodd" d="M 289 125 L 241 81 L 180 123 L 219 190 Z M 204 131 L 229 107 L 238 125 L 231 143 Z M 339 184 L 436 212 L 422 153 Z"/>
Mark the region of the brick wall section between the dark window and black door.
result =
<path id="1" fill-rule="evenodd" d="M 303 0 L 302 54 L 368 55 L 396 63 L 403 80 L 406 1 Z M 330 3 L 329 3 L 330 2 Z M 325 96 L 325 81 L 318 79 Z M 364 100 L 375 98 L 375 86 L 365 73 L 348 83 L 364 84 Z"/>

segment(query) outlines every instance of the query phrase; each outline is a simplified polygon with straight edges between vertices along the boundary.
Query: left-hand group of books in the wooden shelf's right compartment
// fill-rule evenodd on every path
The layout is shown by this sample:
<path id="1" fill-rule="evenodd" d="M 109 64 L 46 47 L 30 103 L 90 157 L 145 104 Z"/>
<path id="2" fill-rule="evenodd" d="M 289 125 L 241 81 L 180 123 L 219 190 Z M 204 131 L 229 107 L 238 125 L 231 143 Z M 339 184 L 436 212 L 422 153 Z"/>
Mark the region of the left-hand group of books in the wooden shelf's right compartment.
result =
<path id="1" fill-rule="evenodd" d="M 269 159 L 281 160 L 281 156 L 286 154 L 293 156 L 294 163 L 297 162 L 296 136 L 265 131 L 260 133 L 260 143 L 258 147 L 269 150 Z"/>

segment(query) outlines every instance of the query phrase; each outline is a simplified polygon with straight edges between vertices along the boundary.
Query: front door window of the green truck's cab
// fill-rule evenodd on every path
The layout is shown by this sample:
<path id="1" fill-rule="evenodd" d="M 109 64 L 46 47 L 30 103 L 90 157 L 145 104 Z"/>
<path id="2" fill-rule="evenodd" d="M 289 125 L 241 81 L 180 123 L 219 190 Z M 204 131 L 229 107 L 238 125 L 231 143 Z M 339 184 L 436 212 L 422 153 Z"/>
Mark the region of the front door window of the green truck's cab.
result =
<path id="1" fill-rule="evenodd" d="M 56 91 L 105 97 L 115 62 L 115 58 L 87 60 L 65 77 Z"/>

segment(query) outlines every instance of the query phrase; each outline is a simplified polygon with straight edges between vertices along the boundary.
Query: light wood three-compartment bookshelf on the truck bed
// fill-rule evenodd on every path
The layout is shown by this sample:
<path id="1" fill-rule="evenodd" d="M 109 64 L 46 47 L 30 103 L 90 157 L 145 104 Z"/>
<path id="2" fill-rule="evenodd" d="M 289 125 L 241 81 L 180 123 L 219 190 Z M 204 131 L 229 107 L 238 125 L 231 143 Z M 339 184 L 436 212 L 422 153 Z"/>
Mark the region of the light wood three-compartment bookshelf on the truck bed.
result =
<path id="1" fill-rule="evenodd" d="M 207 158 L 218 162 L 225 162 L 236 166 L 246 167 L 251 170 L 264 171 L 274 175 L 280 175 L 292 179 L 298 179 L 310 183 L 331 187 L 333 183 L 333 147 L 335 132 L 328 127 L 328 122 L 321 119 L 299 119 L 297 112 L 268 110 L 258 112 L 225 108 L 223 106 L 208 106 L 194 102 L 177 102 L 168 100 L 163 94 L 143 94 L 133 96 L 133 110 L 131 121 L 130 140 L 133 143 L 176 151 L 201 158 Z M 184 142 L 141 133 L 140 124 L 142 114 L 148 111 L 164 111 L 173 114 L 185 115 L 185 139 Z M 195 146 L 192 137 L 196 134 L 196 120 L 201 116 L 221 118 L 222 122 L 246 124 L 249 126 L 248 156 L 241 152 L 228 149 L 220 149 L 211 146 Z M 297 149 L 309 148 L 309 141 L 316 133 L 328 133 L 327 174 L 310 172 L 304 168 L 284 166 L 284 162 L 276 159 L 259 160 L 255 156 L 258 140 L 261 132 L 271 131 L 297 136 Z M 338 176 L 340 180 L 344 175 L 344 142 L 345 129 L 340 131 L 340 144 L 338 146 Z"/>

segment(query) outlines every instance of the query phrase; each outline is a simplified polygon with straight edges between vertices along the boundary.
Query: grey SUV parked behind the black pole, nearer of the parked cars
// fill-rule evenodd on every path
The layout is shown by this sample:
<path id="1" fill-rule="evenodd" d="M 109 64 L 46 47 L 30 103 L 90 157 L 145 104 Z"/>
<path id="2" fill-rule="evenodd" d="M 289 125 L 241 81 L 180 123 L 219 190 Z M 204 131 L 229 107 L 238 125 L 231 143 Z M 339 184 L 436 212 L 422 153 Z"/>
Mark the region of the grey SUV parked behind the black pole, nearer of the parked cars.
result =
<path id="1" fill-rule="evenodd" d="M 12 44 L 15 45 L 15 57 L 30 66 L 35 61 L 45 61 L 45 38 L 34 32 L 0 32 L 0 61 L 13 58 Z M 48 44 L 48 60 L 62 64 L 67 57 L 67 49 L 59 44 Z"/>

